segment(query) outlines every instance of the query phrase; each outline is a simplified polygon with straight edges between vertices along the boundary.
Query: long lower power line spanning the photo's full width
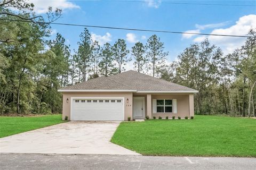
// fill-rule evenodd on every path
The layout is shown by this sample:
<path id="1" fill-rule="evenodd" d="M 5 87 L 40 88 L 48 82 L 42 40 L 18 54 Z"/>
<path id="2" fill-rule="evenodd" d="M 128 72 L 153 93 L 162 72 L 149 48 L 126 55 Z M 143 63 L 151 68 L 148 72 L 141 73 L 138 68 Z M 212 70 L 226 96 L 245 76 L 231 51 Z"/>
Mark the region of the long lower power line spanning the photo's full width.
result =
<path id="1" fill-rule="evenodd" d="M 180 33 L 180 34 L 203 35 L 203 36 L 223 36 L 223 37 L 255 38 L 255 37 L 253 37 L 253 36 L 241 36 L 241 35 L 222 35 L 222 34 L 212 34 L 212 33 L 194 33 L 194 32 L 181 32 L 181 31 L 164 31 L 164 30 L 148 30 L 148 29 L 121 28 L 121 27 L 105 27 L 105 26 L 98 26 L 98 25 L 83 25 L 83 24 L 58 23 L 58 22 L 38 22 L 38 21 L 13 20 L 13 19 L 0 19 L 0 20 L 17 21 L 17 22 L 33 22 L 33 23 L 38 23 L 38 24 L 68 25 L 68 26 L 89 27 L 89 28 L 103 28 L 103 29 L 129 30 L 129 31 L 162 32 L 162 33 Z"/>

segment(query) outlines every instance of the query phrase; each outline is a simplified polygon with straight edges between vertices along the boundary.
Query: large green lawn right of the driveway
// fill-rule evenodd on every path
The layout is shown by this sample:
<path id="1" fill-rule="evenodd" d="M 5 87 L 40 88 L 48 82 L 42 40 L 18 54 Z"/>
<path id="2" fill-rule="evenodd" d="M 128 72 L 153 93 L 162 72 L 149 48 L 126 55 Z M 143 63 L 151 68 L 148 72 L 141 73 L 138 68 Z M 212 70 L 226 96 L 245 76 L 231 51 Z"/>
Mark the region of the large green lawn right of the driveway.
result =
<path id="1" fill-rule="evenodd" d="M 256 120 L 196 115 L 122 122 L 111 142 L 142 155 L 256 157 Z"/>

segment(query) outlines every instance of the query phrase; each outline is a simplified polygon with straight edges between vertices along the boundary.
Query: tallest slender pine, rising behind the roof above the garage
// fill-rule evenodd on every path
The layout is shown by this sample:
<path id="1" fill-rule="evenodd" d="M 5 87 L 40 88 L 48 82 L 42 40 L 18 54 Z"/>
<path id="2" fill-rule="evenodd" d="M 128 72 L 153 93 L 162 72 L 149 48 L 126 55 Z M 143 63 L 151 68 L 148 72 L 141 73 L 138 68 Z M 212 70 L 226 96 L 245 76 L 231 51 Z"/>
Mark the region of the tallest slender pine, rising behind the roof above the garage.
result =
<path id="1" fill-rule="evenodd" d="M 89 74 L 90 65 L 92 63 L 92 40 L 91 34 L 87 28 L 80 34 L 80 42 L 78 42 L 78 67 L 82 71 L 82 81 L 86 81 L 86 75 Z"/>

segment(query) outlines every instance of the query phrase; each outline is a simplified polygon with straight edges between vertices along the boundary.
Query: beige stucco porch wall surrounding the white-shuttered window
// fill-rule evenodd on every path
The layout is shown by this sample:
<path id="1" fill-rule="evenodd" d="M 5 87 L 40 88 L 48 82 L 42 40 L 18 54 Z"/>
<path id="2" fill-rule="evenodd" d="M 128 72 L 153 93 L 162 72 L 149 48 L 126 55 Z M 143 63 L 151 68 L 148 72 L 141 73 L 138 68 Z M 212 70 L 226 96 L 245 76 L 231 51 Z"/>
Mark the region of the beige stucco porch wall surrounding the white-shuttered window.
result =
<path id="1" fill-rule="evenodd" d="M 186 95 L 151 95 L 152 99 L 177 99 L 177 113 L 152 113 L 152 117 L 161 116 L 165 118 L 168 116 L 169 118 L 172 118 L 172 116 L 175 116 L 175 118 L 178 118 L 180 116 L 181 118 L 184 118 L 185 116 L 190 117 L 190 102 L 189 97 L 193 97 L 193 94 L 186 94 Z M 152 101 L 151 101 L 152 102 Z M 190 104 L 190 105 L 189 105 Z M 152 107 L 152 104 L 151 104 Z M 193 101 L 193 116 L 194 116 L 194 101 Z"/>

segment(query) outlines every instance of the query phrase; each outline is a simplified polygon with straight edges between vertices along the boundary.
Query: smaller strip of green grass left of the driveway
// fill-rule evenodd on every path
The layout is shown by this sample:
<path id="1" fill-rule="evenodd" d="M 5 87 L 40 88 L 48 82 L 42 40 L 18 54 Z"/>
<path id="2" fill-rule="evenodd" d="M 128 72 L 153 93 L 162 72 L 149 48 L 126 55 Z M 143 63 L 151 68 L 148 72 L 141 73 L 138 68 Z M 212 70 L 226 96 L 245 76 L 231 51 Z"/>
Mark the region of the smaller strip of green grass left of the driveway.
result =
<path id="1" fill-rule="evenodd" d="M 61 115 L 31 116 L 31 117 L 9 117 L 0 116 L 0 138 L 12 134 L 27 132 L 38 128 L 44 128 L 62 122 Z"/>

